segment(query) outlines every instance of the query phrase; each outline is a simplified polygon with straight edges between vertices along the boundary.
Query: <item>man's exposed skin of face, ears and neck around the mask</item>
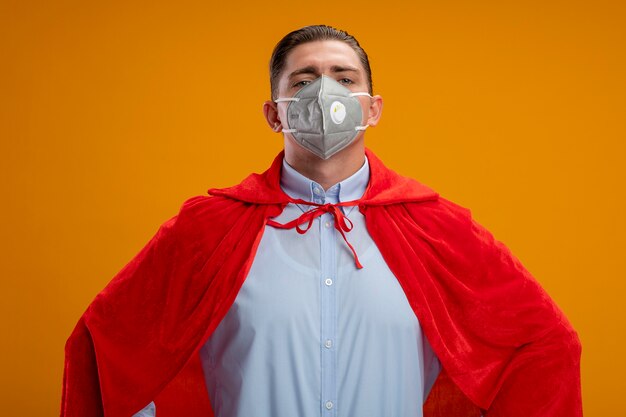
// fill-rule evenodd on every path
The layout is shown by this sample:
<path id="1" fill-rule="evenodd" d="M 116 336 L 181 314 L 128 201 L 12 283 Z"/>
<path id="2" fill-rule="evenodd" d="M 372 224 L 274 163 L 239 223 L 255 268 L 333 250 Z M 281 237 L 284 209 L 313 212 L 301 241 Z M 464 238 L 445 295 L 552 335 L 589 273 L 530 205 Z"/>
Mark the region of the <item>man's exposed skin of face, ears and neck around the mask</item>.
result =
<path id="1" fill-rule="evenodd" d="M 356 52 L 344 42 L 316 41 L 298 45 L 286 57 L 278 82 L 278 97 L 292 97 L 298 90 L 322 75 L 332 77 L 350 91 L 368 90 L 367 75 Z M 381 96 L 358 96 L 363 108 L 362 125 L 378 124 L 383 108 Z M 270 128 L 281 133 L 287 120 L 287 102 L 263 104 Z M 365 131 L 335 155 L 324 160 L 302 147 L 291 133 L 283 133 L 285 159 L 296 171 L 317 182 L 325 190 L 350 177 L 365 162 Z"/>

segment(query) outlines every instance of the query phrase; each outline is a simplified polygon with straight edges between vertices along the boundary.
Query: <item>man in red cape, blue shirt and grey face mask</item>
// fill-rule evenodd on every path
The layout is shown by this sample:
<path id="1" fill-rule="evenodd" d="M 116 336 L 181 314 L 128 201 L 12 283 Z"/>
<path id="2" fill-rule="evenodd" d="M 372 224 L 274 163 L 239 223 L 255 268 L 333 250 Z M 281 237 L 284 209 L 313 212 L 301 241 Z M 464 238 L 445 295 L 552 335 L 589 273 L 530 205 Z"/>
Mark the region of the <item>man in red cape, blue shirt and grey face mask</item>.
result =
<path id="1" fill-rule="evenodd" d="M 302 28 L 270 77 L 284 153 L 187 201 L 96 297 L 62 415 L 413 417 L 432 387 L 430 416 L 581 416 L 556 305 L 467 210 L 365 149 L 382 98 L 358 42 Z"/>

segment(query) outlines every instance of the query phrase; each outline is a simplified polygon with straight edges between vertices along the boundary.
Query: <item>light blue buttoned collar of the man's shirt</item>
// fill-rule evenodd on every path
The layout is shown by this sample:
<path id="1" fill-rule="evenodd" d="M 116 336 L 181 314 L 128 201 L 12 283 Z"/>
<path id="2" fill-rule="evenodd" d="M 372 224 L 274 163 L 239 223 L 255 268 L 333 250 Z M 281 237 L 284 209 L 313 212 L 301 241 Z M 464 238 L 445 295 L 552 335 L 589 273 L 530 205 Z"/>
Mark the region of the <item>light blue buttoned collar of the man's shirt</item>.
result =
<path id="1" fill-rule="evenodd" d="M 334 204 L 361 198 L 367 188 L 369 177 L 370 167 L 366 156 L 363 166 L 357 172 L 324 191 L 320 184 L 300 174 L 283 159 L 280 187 L 291 198 Z"/>

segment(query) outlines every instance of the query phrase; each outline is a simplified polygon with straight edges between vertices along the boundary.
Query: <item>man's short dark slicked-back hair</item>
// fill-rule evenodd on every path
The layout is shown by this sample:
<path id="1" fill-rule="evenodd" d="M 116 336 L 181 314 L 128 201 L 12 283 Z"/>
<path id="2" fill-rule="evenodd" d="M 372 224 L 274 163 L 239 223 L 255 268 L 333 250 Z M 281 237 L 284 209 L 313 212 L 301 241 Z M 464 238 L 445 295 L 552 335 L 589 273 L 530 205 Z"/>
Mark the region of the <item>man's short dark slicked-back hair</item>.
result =
<path id="1" fill-rule="evenodd" d="M 285 67 L 285 59 L 293 48 L 303 43 L 337 40 L 347 43 L 356 52 L 361 61 L 361 65 L 365 69 L 367 75 L 367 84 L 369 93 L 373 94 L 372 89 L 372 69 L 370 68 L 370 62 L 367 58 L 367 54 L 359 45 L 359 42 L 343 30 L 335 29 L 326 25 L 305 26 L 301 29 L 294 30 L 288 33 L 284 38 L 280 40 L 274 47 L 272 57 L 270 58 L 270 88 L 272 93 L 272 99 L 276 98 L 278 92 L 278 78 Z"/>

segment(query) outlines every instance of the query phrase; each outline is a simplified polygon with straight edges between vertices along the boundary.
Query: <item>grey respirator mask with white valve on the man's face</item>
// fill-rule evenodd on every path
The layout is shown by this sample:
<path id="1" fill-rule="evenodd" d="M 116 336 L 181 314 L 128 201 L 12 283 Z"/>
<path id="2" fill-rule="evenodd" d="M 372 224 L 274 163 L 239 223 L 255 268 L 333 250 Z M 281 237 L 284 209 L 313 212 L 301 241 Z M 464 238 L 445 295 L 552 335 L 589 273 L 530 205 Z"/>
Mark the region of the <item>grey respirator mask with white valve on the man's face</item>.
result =
<path id="1" fill-rule="evenodd" d="M 304 148 L 322 159 L 328 159 L 348 146 L 359 131 L 363 110 L 356 96 L 369 93 L 353 93 L 330 77 L 322 75 L 304 86 L 293 97 L 278 98 L 276 103 L 289 102 L 287 128 Z"/>

